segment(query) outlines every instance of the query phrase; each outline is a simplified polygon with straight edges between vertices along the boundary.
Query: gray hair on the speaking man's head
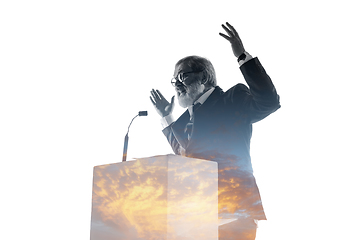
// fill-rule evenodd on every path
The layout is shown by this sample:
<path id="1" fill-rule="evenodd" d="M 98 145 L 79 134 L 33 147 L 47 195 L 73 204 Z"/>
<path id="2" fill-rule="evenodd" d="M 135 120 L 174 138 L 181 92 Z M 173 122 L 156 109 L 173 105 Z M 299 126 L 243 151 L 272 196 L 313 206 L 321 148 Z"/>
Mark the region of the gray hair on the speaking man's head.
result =
<path id="1" fill-rule="evenodd" d="M 193 71 L 203 71 L 204 76 L 207 79 L 205 85 L 216 87 L 217 82 L 215 69 L 208 59 L 199 56 L 188 56 L 180 59 L 176 63 L 175 67 L 179 66 L 180 64 L 186 64 Z"/>

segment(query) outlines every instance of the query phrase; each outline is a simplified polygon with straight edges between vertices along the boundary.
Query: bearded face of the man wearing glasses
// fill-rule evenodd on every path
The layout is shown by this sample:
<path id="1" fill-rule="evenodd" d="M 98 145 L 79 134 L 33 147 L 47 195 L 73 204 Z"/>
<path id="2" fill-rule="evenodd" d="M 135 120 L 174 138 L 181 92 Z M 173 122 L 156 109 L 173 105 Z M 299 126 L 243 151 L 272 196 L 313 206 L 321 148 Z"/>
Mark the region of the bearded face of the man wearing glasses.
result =
<path id="1" fill-rule="evenodd" d="M 193 73 L 193 70 L 184 64 L 180 64 L 175 68 L 174 76 L 183 75 L 184 83 L 176 81 L 175 91 L 179 101 L 179 105 L 183 108 L 191 106 L 205 90 L 204 84 L 201 83 L 203 73 Z"/>

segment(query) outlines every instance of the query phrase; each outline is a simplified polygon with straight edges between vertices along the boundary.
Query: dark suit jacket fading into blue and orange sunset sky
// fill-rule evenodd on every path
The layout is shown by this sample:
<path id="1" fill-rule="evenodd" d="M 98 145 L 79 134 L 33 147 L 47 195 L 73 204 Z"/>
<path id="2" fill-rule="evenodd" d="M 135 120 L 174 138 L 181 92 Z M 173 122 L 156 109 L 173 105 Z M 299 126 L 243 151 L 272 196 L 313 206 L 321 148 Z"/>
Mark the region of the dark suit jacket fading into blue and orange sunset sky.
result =
<path id="1" fill-rule="evenodd" d="M 275 87 L 257 58 L 240 67 L 249 88 L 216 87 L 194 111 L 192 137 L 186 111 L 163 130 L 175 154 L 218 162 L 220 218 L 266 219 L 250 158 L 252 124 L 280 108 Z"/>

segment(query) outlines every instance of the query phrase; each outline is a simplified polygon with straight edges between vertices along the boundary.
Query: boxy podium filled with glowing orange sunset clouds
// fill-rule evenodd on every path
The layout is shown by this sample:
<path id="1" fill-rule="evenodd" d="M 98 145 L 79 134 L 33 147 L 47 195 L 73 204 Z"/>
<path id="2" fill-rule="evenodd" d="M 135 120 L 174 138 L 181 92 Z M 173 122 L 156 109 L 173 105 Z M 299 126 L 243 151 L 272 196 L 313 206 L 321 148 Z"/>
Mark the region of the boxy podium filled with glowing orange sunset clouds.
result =
<path id="1" fill-rule="evenodd" d="M 90 240 L 217 240 L 216 162 L 163 155 L 94 167 Z"/>

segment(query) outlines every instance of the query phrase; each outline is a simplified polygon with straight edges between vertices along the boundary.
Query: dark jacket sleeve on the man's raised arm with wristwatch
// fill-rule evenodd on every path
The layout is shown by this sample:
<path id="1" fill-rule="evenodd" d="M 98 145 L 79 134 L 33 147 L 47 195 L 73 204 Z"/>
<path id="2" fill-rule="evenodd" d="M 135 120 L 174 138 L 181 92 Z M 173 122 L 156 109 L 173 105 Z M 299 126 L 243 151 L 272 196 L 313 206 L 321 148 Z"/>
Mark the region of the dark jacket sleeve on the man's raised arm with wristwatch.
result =
<path id="1" fill-rule="evenodd" d="M 250 88 L 245 108 L 251 123 L 260 121 L 280 108 L 279 95 L 258 58 L 244 63 L 240 70 Z"/>

